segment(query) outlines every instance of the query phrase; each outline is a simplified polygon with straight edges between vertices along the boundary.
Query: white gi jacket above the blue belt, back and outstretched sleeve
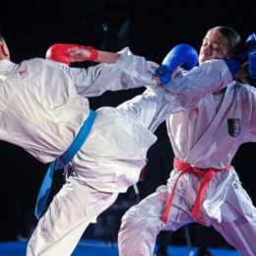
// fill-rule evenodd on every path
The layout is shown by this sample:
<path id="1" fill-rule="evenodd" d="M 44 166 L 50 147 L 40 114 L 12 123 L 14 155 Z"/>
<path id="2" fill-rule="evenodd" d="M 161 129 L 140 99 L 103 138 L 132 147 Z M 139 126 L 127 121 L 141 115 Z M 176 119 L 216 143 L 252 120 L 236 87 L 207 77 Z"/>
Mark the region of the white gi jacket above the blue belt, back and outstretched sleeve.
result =
<path id="1" fill-rule="evenodd" d="M 149 72 L 144 76 L 141 71 L 142 64 L 149 69 L 144 58 L 127 57 L 134 64 L 133 72 L 117 64 L 85 70 L 43 59 L 19 65 L 1 60 L 0 139 L 24 148 L 42 162 L 56 159 L 71 145 L 89 114 L 85 96 L 155 84 Z M 121 59 L 117 63 L 127 61 Z"/>

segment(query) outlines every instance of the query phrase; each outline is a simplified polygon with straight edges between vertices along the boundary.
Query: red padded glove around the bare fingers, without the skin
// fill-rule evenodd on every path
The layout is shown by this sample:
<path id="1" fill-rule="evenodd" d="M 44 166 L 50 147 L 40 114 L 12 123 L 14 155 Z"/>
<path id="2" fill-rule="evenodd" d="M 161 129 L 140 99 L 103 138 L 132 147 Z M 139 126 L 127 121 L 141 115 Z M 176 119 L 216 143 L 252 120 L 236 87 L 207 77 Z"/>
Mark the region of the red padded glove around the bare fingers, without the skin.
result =
<path id="1" fill-rule="evenodd" d="M 72 48 L 83 48 L 88 50 L 90 52 L 90 56 L 84 59 L 87 61 L 94 61 L 98 56 L 98 51 L 91 46 L 83 46 L 71 43 L 56 43 L 51 45 L 46 51 L 46 59 L 51 59 L 70 65 L 69 49 Z"/>

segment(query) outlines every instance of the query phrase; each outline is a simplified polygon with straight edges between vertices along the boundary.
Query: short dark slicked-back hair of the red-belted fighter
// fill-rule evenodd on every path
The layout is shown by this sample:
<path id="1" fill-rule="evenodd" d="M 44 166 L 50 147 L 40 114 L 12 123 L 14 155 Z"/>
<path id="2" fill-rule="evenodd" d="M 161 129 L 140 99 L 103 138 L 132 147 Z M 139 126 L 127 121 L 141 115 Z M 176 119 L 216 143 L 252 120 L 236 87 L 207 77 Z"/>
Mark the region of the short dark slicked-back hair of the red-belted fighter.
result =
<path id="1" fill-rule="evenodd" d="M 231 46 L 231 55 L 235 56 L 239 51 L 243 49 L 243 40 L 238 32 L 234 31 L 230 27 L 218 26 L 210 31 L 219 31 L 228 40 Z"/>

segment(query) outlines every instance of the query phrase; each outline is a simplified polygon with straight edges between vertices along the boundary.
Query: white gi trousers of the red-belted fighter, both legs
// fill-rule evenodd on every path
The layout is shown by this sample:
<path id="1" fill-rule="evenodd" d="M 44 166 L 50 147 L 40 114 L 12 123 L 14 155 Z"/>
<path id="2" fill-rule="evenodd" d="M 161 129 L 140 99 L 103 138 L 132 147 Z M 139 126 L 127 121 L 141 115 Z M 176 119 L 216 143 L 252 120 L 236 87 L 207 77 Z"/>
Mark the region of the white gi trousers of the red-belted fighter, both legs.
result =
<path id="1" fill-rule="evenodd" d="M 220 223 L 206 213 L 204 217 L 241 255 L 255 256 L 256 209 L 241 187 L 234 170 L 227 171 L 233 171 L 233 173 L 232 179 L 228 183 L 224 203 L 221 206 L 222 221 Z M 178 172 L 174 175 L 177 176 Z M 191 174 L 187 173 L 185 175 Z M 196 177 L 193 177 L 193 179 L 196 179 Z M 151 256 L 154 253 L 157 235 L 160 230 L 176 230 L 184 224 L 195 222 L 191 217 L 193 203 L 191 204 L 188 201 L 185 193 L 186 188 L 180 184 L 175 190 L 168 223 L 163 224 L 161 221 L 162 211 L 165 208 L 171 189 L 171 185 L 160 186 L 157 192 L 126 212 L 122 218 L 118 234 L 120 256 Z M 245 208 L 247 213 L 251 213 L 250 216 L 248 214 L 245 216 L 243 212 Z"/>

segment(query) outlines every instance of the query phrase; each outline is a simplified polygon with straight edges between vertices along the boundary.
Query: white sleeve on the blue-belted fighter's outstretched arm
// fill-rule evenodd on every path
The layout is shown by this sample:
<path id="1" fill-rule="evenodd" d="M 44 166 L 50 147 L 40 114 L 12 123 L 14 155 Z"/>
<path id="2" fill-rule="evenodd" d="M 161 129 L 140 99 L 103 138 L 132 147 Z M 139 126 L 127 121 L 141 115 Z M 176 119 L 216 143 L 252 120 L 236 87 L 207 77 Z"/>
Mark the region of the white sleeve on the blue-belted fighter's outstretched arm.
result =
<path id="1" fill-rule="evenodd" d="M 154 65 L 143 57 L 124 52 L 120 53 L 116 63 L 102 63 L 88 69 L 68 68 L 67 71 L 75 82 L 78 94 L 100 96 L 106 91 L 157 86 L 152 80 Z"/>

